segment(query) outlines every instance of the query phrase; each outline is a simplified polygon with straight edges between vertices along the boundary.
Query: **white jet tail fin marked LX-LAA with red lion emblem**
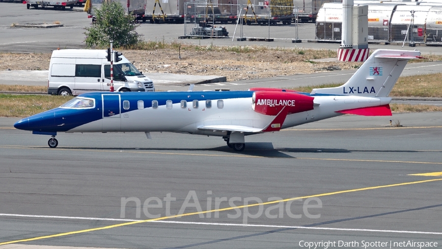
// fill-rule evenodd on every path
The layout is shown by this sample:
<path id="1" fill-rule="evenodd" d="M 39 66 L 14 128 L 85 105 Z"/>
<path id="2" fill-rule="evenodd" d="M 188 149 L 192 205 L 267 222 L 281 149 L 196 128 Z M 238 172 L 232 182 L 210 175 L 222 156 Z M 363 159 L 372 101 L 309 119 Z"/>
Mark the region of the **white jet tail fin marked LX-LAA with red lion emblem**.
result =
<path id="1" fill-rule="evenodd" d="M 311 94 L 387 97 L 408 60 L 419 58 L 419 51 L 378 49 L 344 85 L 313 89 Z"/>

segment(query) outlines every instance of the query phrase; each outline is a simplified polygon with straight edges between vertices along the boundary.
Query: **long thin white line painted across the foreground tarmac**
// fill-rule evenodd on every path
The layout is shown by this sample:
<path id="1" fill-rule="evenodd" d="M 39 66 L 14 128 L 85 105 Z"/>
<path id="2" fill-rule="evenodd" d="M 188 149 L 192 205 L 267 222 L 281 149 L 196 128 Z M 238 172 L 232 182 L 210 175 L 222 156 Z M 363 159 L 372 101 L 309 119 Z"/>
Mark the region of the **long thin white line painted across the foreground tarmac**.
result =
<path id="1" fill-rule="evenodd" d="M 123 218 L 92 218 L 92 217 L 69 217 L 69 216 L 45 216 L 45 215 L 19 215 L 19 214 L 0 214 L 0 216 L 9 217 L 30 217 L 30 218 L 58 218 L 58 219 L 86 219 L 86 220 L 110 220 L 110 221 L 138 221 L 139 219 Z M 281 226 L 264 224 L 239 224 L 239 223 L 213 223 L 213 222 L 188 222 L 155 220 L 149 222 L 173 223 L 173 224 L 192 224 L 192 225 L 216 225 L 216 226 L 247 226 L 247 227 L 268 227 L 268 228 L 292 228 L 292 229 L 310 229 L 310 230 L 332 230 L 332 231 L 355 231 L 355 232 L 381 232 L 381 233 L 411 233 L 411 234 L 436 234 L 442 235 L 442 232 L 422 232 L 422 231 L 404 231 L 404 230 L 382 230 L 382 229 L 361 229 L 361 228 L 335 228 L 335 227 L 306 227 L 306 226 Z"/>

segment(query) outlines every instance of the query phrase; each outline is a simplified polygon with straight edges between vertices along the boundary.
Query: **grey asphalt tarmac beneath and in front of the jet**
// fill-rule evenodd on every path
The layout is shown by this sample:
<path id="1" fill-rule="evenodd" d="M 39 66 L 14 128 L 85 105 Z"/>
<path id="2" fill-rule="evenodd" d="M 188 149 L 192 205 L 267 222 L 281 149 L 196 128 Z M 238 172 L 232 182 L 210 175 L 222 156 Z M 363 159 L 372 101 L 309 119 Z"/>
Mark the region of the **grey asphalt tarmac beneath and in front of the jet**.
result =
<path id="1" fill-rule="evenodd" d="M 440 112 L 345 115 L 248 136 L 242 153 L 173 133 L 62 133 L 50 149 L 15 121 L 0 118 L 1 249 L 442 243 Z"/>

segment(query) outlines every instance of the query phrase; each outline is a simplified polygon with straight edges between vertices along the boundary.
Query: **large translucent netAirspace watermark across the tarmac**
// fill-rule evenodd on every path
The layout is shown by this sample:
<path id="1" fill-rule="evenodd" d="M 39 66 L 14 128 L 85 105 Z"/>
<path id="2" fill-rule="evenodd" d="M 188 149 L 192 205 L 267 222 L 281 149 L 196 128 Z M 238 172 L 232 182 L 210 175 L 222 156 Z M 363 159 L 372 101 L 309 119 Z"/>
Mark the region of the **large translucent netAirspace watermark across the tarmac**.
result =
<path id="1" fill-rule="evenodd" d="M 315 210 L 322 208 L 322 201 L 318 197 L 310 197 L 305 200 L 303 199 L 294 199 L 288 201 L 282 201 L 283 199 L 280 197 L 269 197 L 267 202 L 275 202 L 272 204 L 267 204 L 264 207 L 264 202 L 261 198 L 258 197 L 212 197 L 212 191 L 207 191 L 206 202 L 206 210 L 203 211 L 201 208 L 201 204 L 199 203 L 199 199 L 196 195 L 195 190 L 190 190 L 187 194 L 186 198 L 181 205 L 180 211 L 177 214 L 170 213 L 171 203 L 176 201 L 176 197 L 172 197 L 171 193 L 167 193 L 166 197 L 163 199 L 159 197 L 149 197 L 141 206 L 141 201 L 137 197 L 121 197 L 121 211 L 120 218 L 126 218 L 126 205 L 131 202 L 135 202 L 136 204 L 136 217 L 141 218 L 141 209 L 143 210 L 144 215 L 147 218 L 161 218 L 162 211 L 165 210 L 165 217 L 170 216 L 180 216 L 187 213 L 199 213 L 199 218 L 212 218 L 212 214 L 214 218 L 220 218 L 220 209 L 227 209 L 226 211 L 235 211 L 235 214 L 227 214 L 227 218 L 243 218 L 243 224 L 247 224 L 249 218 L 260 218 L 262 215 L 265 215 L 267 218 L 284 218 L 285 215 L 289 218 L 303 218 L 303 215 L 307 218 L 320 218 L 321 214 L 310 214 L 310 212 L 315 213 Z M 133 204 L 133 203 L 132 203 Z M 229 207 L 226 207 L 226 204 Z M 256 213 L 251 214 L 249 212 L 250 205 L 257 205 L 254 207 L 254 211 Z M 295 208 L 295 205 L 301 205 L 303 207 L 302 213 L 292 212 Z M 221 208 L 222 206 L 222 208 Z M 311 210 L 311 211 L 309 211 Z M 205 211 L 210 211 L 203 213 Z M 317 213 L 317 210 L 316 210 Z M 195 214 L 196 215 L 196 214 Z"/>

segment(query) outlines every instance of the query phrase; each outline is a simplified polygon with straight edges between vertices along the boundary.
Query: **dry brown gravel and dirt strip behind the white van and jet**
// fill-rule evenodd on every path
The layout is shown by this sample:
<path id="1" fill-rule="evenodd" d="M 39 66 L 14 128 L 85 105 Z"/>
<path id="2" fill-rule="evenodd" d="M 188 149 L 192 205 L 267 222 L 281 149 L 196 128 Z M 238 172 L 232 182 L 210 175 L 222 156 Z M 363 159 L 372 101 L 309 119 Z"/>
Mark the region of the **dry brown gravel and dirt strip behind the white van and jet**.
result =
<path id="1" fill-rule="evenodd" d="M 351 69 L 357 62 L 311 62 L 291 51 L 253 53 L 171 49 L 123 50 L 123 55 L 140 71 L 190 75 L 219 75 L 227 81 L 308 74 L 325 70 Z M 48 70 L 51 54 L 0 54 L 0 70 Z"/>

